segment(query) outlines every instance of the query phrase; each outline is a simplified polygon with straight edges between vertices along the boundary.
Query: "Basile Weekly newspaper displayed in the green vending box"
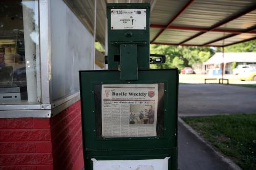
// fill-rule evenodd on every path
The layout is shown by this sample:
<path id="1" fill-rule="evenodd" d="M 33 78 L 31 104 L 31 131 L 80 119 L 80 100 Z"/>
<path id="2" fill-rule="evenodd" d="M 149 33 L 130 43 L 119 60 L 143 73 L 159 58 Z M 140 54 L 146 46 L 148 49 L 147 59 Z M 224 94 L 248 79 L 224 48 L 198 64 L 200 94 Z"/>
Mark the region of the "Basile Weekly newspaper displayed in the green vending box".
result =
<path id="1" fill-rule="evenodd" d="M 158 84 L 105 84 L 102 136 L 156 136 Z"/>

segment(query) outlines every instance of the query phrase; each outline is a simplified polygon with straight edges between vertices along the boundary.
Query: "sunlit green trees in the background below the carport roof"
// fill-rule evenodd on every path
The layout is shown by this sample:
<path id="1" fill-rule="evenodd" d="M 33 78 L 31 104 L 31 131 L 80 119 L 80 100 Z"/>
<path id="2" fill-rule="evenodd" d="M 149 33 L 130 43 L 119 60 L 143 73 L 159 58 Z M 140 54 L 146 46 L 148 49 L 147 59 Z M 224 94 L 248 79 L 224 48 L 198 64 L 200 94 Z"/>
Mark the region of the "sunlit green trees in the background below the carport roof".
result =
<path id="1" fill-rule="evenodd" d="M 151 68 L 178 68 L 181 70 L 184 67 L 191 67 L 194 63 L 207 61 L 216 52 L 222 52 L 222 48 L 152 44 L 150 51 L 151 54 L 166 56 L 165 64 L 151 65 Z M 227 46 L 224 52 L 256 52 L 256 40 Z"/>

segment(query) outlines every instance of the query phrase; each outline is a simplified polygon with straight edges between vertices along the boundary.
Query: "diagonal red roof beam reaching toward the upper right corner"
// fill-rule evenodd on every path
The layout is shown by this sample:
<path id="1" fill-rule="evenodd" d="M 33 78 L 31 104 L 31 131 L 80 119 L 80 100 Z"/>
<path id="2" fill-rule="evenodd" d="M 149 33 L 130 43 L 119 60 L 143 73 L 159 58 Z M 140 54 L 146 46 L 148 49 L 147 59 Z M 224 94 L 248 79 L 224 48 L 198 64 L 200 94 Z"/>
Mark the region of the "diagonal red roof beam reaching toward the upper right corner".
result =
<path id="1" fill-rule="evenodd" d="M 220 26 L 222 26 L 222 25 L 224 25 L 224 24 L 226 24 L 226 23 L 228 23 L 228 22 L 230 22 L 230 21 L 232 21 L 232 20 L 234 20 L 234 19 L 237 19 L 237 18 L 239 18 L 239 17 L 241 17 L 241 16 L 243 16 L 243 15 L 245 15 L 245 14 L 247 14 L 247 13 L 249 13 L 249 12 L 255 10 L 255 9 L 256 9 L 256 5 L 254 5 L 254 6 L 250 7 L 250 8 L 248 8 L 248 9 L 246 9 L 245 11 L 243 11 L 243 12 L 241 12 L 241 13 L 239 13 L 239 14 L 236 14 L 236 15 L 233 15 L 233 16 L 230 16 L 230 17 L 227 17 L 227 18 L 223 19 L 222 21 L 216 23 L 215 25 L 211 26 L 211 27 L 208 29 L 208 31 L 212 31 L 212 30 L 214 30 L 214 29 L 217 29 L 218 27 L 220 27 Z M 207 31 L 207 32 L 208 32 L 208 31 Z M 189 41 L 189 40 L 191 40 L 191 39 L 194 39 L 194 38 L 196 38 L 196 37 L 198 37 L 198 36 L 200 36 L 200 35 L 202 35 L 202 34 L 204 34 L 204 33 L 206 33 L 206 32 L 197 33 L 196 35 L 191 36 L 191 37 L 189 37 L 189 38 L 187 38 L 187 39 L 181 41 L 181 42 L 179 43 L 179 45 L 181 45 L 181 44 L 183 44 L 183 43 L 185 43 L 185 42 L 187 42 L 187 41 Z"/>

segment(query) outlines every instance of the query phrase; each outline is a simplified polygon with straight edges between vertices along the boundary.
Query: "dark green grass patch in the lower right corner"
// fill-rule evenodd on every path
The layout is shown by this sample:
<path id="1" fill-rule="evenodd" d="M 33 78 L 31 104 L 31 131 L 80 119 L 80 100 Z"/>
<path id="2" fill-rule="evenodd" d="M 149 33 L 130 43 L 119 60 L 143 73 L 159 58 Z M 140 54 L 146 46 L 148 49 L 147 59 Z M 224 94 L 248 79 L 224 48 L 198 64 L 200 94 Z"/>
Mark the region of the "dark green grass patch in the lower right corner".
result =
<path id="1" fill-rule="evenodd" d="M 256 169 L 256 114 L 182 119 L 242 169 Z"/>

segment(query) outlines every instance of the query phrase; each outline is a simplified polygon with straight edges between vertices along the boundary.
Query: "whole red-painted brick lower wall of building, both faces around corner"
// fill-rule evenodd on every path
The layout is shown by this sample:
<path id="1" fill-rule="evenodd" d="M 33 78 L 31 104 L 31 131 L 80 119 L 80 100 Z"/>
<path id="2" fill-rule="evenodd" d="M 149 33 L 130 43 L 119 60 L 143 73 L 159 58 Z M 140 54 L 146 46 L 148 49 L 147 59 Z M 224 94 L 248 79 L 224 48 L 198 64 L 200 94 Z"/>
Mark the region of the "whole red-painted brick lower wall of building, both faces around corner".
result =
<path id="1" fill-rule="evenodd" d="M 82 167 L 79 101 L 53 118 L 0 118 L 0 170 Z"/>

